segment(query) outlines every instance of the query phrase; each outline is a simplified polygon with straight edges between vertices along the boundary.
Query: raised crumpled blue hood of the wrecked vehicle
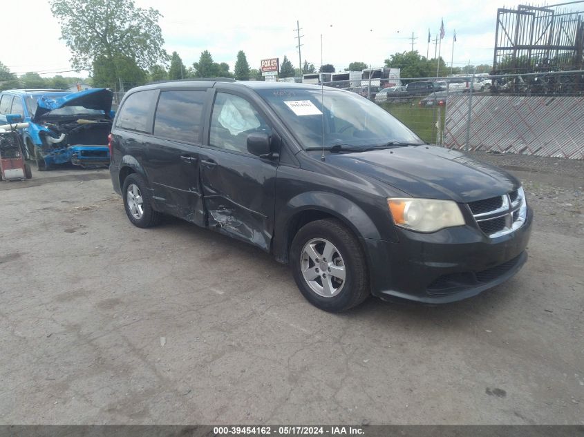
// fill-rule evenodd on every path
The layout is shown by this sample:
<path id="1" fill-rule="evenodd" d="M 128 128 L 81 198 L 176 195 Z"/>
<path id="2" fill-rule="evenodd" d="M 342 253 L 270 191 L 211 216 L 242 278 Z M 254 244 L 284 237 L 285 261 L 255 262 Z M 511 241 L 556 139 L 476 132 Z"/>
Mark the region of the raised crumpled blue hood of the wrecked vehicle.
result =
<path id="1" fill-rule="evenodd" d="M 92 88 L 91 90 L 79 91 L 79 93 L 70 93 L 58 99 L 39 97 L 35 117 L 32 120 L 37 122 L 50 111 L 66 106 L 82 106 L 87 109 L 102 110 L 106 115 L 109 115 L 112 99 L 113 93 L 105 88 Z"/>

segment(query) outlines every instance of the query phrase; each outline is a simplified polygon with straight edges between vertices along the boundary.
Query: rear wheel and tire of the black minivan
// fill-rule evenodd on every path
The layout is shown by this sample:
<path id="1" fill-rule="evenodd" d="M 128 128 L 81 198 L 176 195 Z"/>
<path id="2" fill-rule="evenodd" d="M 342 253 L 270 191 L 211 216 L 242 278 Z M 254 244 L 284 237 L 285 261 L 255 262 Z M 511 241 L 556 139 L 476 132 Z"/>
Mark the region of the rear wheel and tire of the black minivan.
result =
<path id="1" fill-rule="evenodd" d="M 144 179 L 136 173 L 131 173 L 124 179 L 123 186 L 124 209 L 130 222 L 138 228 L 149 228 L 159 224 L 162 213 L 152 208 L 152 197 Z"/>

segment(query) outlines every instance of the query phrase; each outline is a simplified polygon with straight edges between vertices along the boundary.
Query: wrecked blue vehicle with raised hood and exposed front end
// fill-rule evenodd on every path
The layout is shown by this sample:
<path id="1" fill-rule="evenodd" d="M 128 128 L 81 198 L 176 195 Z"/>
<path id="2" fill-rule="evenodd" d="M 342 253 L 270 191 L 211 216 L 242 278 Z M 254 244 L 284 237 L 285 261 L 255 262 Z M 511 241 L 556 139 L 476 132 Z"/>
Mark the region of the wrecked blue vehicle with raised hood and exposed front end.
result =
<path id="1" fill-rule="evenodd" d="M 0 97 L 0 119 L 6 113 L 23 115 L 21 132 L 26 155 L 39 171 L 55 164 L 109 165 L 113 94 L 104 88 L 79 93 L 64 90 L 8 90 Z"/>

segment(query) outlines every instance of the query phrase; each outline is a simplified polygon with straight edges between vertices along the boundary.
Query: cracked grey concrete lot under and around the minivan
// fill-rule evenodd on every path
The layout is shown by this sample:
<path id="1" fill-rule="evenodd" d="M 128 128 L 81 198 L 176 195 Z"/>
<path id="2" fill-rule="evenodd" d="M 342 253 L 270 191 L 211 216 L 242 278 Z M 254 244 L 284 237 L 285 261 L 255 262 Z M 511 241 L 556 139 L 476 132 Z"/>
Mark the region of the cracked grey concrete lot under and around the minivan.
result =
<path id="1" fill-rule="evenodd" d="M 537 214 L 515 278 L 340 315 L 252 246 L 135 228 L 106 170 L 1 182 L 0 423 L 582 425 L 583 181 L 514 173 Z"/>

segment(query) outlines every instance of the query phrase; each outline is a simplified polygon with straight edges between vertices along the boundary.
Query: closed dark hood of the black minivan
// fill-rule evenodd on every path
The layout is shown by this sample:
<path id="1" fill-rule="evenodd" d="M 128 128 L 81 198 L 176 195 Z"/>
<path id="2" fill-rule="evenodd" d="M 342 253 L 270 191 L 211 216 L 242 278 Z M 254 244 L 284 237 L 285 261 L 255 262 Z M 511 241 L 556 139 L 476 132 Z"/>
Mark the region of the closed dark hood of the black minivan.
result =
<path id="1" fill-rule="evenodd" d="M 516 177 L 496 166 L 437 146 L 332 153 L 326 161 L 374 177 L 412 197 L 467 203 L 502 195 L 520 186 Z"/>

